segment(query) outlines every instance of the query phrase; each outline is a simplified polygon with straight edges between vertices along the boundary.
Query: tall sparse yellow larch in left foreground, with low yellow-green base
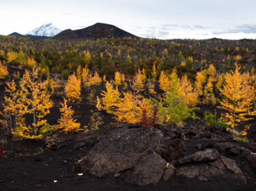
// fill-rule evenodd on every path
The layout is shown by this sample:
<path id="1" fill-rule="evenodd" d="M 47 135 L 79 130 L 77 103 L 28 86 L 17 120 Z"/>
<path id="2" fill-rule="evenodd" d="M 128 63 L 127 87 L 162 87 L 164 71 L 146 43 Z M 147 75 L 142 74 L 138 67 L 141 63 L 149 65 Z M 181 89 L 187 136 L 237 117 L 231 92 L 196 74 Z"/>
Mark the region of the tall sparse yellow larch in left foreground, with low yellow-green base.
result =
<path id="1" fill-rule="evenodd" d="M 38 77 L 38 69 L 33 67 L 31 72 L 25 71 L 23 78 L 20 80 L 20 90 L 26 95 L 24 100 L 27 105 L 27 114 L 32 114 L 33 122 L 30 125 L 21 125 L 16 128 L 14 135 L 25 137 L 28 139 L 42 139 L 53 129 L 47 123 L 44 117 L 50 113 L 50 108 L 53 107 L 51 101 L 51 91 L 48 90 L 48 82 L 42 81 Z"/>

